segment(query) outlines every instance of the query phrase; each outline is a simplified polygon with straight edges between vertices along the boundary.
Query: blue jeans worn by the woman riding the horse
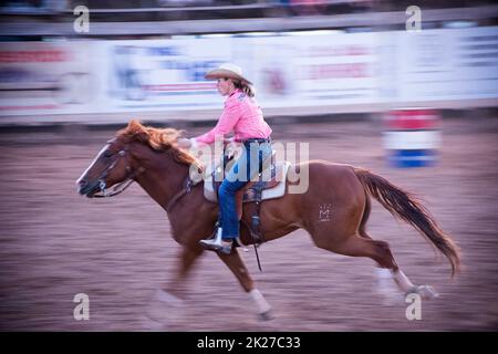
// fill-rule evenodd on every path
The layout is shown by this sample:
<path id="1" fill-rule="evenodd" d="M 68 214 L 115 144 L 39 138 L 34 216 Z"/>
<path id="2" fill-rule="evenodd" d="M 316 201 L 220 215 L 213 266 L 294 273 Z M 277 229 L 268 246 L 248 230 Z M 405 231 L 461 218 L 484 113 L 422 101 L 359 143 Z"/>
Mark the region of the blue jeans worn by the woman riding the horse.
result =
<path id="1" fill-rule="evenodd" d="M 246 143 L 241 155 L 227 171 L 219 187 L 219 222 L 222 228 L 221 238 L 235 239 L 239 237 L 239 218 L 237 216 L 236 192 L 240 190 L 253 176 L 262 170 L 262 163 L 271 156 L 270 143 Z"/>

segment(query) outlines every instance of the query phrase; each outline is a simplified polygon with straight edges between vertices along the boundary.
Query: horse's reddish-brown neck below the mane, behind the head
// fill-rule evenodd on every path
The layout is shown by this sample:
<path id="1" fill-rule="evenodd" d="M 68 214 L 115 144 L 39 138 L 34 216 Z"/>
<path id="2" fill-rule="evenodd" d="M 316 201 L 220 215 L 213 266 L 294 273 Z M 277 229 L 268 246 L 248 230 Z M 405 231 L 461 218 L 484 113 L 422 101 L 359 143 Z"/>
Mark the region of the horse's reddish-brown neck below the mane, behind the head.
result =
<path id="1" fill-rule="evenodd" d="M 166 210 L 168 202 L 184 188 L 187 176 L 188 166 L 169 162 L 168 164 L 151 164 L 136 181 Z"/>

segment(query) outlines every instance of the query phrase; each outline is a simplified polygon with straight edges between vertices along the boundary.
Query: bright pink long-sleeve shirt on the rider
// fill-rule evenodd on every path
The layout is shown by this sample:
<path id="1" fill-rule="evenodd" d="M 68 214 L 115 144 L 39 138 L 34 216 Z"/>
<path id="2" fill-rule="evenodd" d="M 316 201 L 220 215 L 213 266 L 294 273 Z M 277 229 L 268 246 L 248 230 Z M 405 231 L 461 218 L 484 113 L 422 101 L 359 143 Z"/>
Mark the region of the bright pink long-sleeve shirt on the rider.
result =
<path id="1" fill-rule="evenodd" d="M 271 128 L 264 122 L 258 103 L 241 90 L 234 91 L 225 101 L 224 113 L 216 126 L 194 139 L 201 144 L 212 144 L 216 136 L 225 136 L 231 131 L 234 131 L 236 142 L 248 138 L 267 138 L 271 135 Z"/>

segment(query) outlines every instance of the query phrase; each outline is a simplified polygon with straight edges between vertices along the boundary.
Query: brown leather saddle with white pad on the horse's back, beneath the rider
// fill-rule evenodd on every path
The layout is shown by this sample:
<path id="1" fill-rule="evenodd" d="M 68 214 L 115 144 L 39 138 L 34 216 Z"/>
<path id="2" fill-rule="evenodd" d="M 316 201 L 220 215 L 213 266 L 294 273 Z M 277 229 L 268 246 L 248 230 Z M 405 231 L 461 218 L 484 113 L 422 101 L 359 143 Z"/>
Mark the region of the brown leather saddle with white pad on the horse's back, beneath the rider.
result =
<path id="1" fill-rule="evenodd" d="M 263 162 L 263 169 L 258 176 L 251 176 L 251 180 L 236 194 L 237 215 L 242 218 L 242 206 L 246 202 L 255 202 L 256 210 L 251 217 L 249 227 L 257 243 L 262 243 L 263 238 L 260 232 L 260 204 L 262 200 L 281 198 L 286 194 L 287 173 L 290 167 L 289 162 L 276 162 L 274 152 L 268 160 Z M 224 157 L 221 163 L 212 164 L 210 178 L 205 180 L 204 196 L 207 200 L 218 202 L 218 190 L 222 183 L 222 171 L 230 158 Z"/>

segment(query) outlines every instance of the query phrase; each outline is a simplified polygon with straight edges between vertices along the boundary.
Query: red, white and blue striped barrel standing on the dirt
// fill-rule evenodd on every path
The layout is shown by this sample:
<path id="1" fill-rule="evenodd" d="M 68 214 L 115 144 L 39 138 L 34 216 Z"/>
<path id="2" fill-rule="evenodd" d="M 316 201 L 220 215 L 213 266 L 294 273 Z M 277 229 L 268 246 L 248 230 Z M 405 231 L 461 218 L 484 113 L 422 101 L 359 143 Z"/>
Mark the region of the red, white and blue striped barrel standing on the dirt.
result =
<path id="1" fill-rule="evenodd" d="M 390 166 L 434 166 L 440 146 L 440 116 L 428 108 L 390 111 L 384 118 L 384 147 Z"/>

